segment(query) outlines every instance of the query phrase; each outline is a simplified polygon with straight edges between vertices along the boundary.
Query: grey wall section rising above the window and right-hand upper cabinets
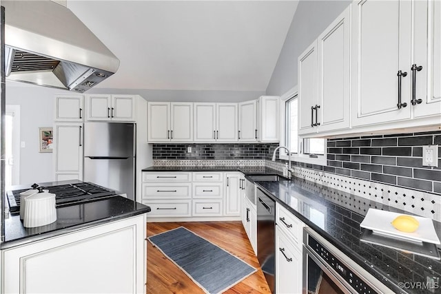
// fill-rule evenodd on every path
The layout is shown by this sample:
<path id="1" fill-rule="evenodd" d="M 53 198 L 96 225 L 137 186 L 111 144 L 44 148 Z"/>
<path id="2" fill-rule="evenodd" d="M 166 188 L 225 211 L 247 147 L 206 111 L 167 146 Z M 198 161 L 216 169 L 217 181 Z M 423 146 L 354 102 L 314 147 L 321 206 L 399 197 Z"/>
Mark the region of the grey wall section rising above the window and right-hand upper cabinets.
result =
<path id="1" fill-rule="evenodd" d="M 287 38 L 269 80 L 267 95 L 282 95 L 297 85 L 298 56 L 349 6 L 349 3 L 351 0 L 302 0 L 298 3 Z"/>

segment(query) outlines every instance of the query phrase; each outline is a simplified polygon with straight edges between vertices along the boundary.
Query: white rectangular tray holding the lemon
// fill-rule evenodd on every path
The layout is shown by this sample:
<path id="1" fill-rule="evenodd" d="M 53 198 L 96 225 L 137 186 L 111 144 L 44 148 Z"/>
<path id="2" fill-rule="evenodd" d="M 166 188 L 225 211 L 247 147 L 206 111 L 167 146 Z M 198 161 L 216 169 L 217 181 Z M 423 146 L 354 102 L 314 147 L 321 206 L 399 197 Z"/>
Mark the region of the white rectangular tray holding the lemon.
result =
<path id="1" fill-rule="evenodd" d="M 435 227 L 433 227 L 433 221 L 430 218 L 413 216 L 413 218 L 416 218 L 418 222 L 420 222 L 420 227 L 418 227 L 418 229 L 413 233 L 406 233 L 395 229 L 391 224 L 392 220 L 394 220 L 397 216 L 403 215 L 403 213 L 395 213 L 391 211 L 370 208 L 367 211 L 365 219 L 361 222 L 360 227 L 372 230 L 382 235 L 388 235 L 389 237 L 400 238 L 414 242 L 429 242 L 433 244 L 441 244 L 440 239 L 436 234 Z"/>

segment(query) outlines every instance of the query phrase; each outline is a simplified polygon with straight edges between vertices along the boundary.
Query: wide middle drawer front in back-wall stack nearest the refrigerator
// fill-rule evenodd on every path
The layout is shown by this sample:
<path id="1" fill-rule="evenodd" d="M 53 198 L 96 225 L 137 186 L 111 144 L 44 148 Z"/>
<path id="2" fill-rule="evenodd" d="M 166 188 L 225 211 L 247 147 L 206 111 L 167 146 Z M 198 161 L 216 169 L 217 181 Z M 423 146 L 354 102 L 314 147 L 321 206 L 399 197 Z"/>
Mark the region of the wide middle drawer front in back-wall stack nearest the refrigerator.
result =
<path id="1" fill-rule="evenodd" d="M 143 199 L 181 199 L 192 198 L 191 183 L 182 184 L 143 184 Z"/>

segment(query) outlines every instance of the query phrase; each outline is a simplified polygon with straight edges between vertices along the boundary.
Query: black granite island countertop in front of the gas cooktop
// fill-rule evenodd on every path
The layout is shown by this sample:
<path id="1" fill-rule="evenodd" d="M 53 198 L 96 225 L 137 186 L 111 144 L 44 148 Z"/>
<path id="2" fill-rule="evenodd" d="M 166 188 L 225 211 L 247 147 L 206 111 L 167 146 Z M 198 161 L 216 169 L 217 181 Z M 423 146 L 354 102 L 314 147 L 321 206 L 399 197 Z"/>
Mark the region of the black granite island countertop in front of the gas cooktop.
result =
<path id="1" fill-rule="evenodd" d="M 25 228 L 20 216 L 9 216 L 4 224 L 5 242 L 1 243 L 1 249 L 69 233 L 76 229 L 93 227 L 96 224 L 130 218 L 149 211 L 150 207 L 139 202 L 123 196 L 110 196 L 91 202 L 59 207 L 57 208 L 57 221 L 41 227 Z"/>

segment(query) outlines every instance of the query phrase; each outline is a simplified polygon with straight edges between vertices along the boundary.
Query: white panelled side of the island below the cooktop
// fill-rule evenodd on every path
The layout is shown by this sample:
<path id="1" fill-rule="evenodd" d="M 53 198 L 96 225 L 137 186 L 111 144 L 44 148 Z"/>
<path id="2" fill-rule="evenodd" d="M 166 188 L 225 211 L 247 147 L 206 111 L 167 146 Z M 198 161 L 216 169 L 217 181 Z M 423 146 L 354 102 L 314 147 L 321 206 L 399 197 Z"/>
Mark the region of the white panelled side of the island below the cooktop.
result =
<path id="1" fill-rule="evenodd" d="M 3 249 L 0 292 L 145 293 L 145 238 L 143 214 Z"/>

